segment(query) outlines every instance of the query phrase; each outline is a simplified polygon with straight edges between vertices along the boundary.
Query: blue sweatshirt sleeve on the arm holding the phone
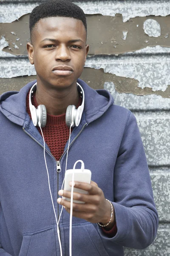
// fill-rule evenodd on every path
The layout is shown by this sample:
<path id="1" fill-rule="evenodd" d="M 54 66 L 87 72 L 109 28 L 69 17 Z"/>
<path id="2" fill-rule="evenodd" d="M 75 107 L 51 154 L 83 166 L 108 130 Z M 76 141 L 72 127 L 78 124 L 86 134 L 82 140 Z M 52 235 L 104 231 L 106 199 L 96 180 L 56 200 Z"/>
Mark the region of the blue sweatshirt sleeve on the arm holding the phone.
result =
<path id="1" fill-rule="evenodd" d="M 135 116 L 130 112 L 114 167 L 114 201 L 117 233 L 102 239 L 116 244 L 144 249 L 156 237 L 158 213 L 147 160 Z"/>

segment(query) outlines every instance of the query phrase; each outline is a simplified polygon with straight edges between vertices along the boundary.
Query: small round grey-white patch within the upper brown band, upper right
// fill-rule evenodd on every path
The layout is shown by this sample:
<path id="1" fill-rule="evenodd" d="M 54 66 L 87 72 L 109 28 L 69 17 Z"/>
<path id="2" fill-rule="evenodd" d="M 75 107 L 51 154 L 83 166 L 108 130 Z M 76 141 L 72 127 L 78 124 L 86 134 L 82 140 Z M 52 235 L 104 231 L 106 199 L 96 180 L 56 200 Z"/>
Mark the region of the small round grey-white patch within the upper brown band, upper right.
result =
<path id="1" fill-rule="evenodd" d="M 153 19 L 145 20 L 143 29 L 144 29 L 144 32 L 149 36 L 159 37 L 161 35 L 161 26 L 156 20 L 153 20 Z M 166 35 L 165 35 L 165 38 L 167 38 Z"/>

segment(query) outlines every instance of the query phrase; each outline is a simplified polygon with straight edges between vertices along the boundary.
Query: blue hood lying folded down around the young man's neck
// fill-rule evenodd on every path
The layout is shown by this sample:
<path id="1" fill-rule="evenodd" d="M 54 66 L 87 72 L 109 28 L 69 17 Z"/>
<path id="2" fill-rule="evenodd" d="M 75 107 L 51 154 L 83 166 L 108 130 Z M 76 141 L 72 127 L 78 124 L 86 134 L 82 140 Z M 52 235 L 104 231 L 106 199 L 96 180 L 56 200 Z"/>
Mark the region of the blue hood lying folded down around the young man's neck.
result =
<path id="1" fill-rule="evenodd" d="M 37 80 L 26 84 L 19 92 L 9 91 L 0 96 L 0 112 L 11 122 L 23 126 L 29 118 L 26 112 L 26 96 L 28 91 Z M 107 90 L 94 90 L 84 81 L 78 79 L 85 93 L 85 119 L 87 123 L 93 122 L 102 116 L 113 105 L 113 97 Z"/>

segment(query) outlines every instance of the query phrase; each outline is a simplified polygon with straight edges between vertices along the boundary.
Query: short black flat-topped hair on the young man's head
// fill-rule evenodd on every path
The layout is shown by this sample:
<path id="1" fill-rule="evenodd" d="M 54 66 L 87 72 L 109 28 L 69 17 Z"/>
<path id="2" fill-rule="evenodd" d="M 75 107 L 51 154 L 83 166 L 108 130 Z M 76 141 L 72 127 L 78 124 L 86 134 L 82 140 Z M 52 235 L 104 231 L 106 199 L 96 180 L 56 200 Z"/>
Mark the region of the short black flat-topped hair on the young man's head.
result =
<path id="1" fill-rule="evenodd" d="M 33 39 L 33 29 L 40 19 L 48 17 L 71 17 L 82 20 L 87 33 L 87 22 L 83 10 L 70 0 L 48 0 L 36 6 L 29 16 L 30 39 Z"/>

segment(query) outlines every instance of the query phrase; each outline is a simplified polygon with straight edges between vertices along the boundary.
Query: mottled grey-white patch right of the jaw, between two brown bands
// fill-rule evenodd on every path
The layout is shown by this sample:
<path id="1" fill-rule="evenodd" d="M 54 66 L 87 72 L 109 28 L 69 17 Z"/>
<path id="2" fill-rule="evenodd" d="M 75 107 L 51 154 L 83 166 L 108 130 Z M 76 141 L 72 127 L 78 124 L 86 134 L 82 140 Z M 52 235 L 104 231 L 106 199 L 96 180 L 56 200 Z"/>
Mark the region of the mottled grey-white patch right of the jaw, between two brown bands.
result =
<path id="1" fill-rule="evenodd" d="M 150 87 L 153 91 L 165 91 L 170 85 L 170 56 L 125 55 L 118 57 L 89 58 L 85 67 L 104 69 L 105 73 L 139 81 L 138 87 Z"/>

